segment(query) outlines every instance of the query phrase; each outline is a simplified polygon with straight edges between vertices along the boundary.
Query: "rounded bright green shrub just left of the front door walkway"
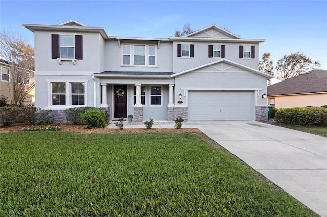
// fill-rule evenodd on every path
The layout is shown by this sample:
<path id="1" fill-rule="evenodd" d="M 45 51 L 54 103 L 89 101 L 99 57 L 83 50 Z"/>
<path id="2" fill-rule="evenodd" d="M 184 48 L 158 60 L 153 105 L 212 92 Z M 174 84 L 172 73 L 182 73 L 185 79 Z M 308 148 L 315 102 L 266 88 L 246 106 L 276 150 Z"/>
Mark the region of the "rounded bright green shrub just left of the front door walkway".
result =
<path id="1" fill-rule="evenodd" d="M 87 129 L 103 128 L 107 123 L 107 112 L 97 108 L 91 108 L 82 116 L 82 122 Z"/>

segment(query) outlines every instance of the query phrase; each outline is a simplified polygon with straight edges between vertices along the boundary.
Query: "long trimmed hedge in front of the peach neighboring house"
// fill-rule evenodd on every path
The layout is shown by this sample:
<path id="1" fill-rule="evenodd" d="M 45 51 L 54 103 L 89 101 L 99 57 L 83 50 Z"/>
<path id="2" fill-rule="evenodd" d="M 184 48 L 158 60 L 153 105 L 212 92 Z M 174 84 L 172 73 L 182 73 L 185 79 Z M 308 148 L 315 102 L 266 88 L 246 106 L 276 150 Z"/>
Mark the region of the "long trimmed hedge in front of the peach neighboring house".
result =
<path id="1" fill-rule="evenodd" d="M 327 108 L 282 108 L 276 112 L 278 122 L 292 125 L 327 125 Z"/>

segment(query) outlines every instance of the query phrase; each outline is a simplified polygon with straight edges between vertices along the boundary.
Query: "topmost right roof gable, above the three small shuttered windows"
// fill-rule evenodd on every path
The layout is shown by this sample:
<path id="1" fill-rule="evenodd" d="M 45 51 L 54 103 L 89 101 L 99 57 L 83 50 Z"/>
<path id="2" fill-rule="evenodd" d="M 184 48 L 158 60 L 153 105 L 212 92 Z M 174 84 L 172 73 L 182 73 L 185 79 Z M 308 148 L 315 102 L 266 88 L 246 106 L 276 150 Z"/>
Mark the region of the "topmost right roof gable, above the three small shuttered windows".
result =
<path id="1" fill-rule="evenodd" d="M 195 31 L 183 37 L 242 39 L 240 36 L 224 30 L 215 24 L 209 25 L 201 30 Z"/>

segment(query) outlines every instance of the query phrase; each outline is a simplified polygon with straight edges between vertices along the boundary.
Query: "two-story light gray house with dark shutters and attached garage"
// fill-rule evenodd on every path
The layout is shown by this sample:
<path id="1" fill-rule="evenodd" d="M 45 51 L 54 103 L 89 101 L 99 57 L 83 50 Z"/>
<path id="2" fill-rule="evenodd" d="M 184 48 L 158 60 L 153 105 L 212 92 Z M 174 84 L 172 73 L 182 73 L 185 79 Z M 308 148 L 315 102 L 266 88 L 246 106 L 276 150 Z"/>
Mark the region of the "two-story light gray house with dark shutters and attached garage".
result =
<path id="1" fill-rule="evenodd" d="M 217 25 L 169 38 L 116 37 L 75 20 L 23 25 L 35 35 L 36 107 L 101 107 L 110 120 L 267 119 L 263 39 Z"/>

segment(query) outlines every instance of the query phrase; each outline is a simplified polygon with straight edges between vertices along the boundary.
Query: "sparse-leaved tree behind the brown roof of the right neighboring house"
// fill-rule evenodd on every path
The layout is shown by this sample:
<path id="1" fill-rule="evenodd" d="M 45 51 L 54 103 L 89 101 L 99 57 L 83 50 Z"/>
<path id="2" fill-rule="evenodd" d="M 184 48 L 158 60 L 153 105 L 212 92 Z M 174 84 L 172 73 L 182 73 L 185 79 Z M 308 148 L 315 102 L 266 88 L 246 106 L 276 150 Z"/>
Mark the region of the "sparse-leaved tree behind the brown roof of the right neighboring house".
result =
<path id="1" fill-rule="evenodd" d="M 279 80 L 286 80 L 303 72 L 320 67 L 320 62 L 312 60 L 303 52 L 292 53 L 291 55 L 284 55 L 279 59 L 276 65 L 276 78 Z"/>

